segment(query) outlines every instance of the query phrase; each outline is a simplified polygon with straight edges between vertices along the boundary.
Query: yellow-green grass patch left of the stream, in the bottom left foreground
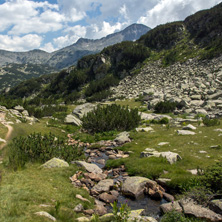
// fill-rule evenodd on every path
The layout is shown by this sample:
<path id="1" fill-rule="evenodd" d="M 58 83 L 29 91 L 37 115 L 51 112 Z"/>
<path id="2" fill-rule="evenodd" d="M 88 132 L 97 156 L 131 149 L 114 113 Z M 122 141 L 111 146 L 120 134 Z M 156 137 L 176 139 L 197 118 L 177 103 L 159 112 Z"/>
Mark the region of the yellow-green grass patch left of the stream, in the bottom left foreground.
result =
<path id="1" fill-rule="evenodd" d="M 82 203 L 85 209 L 93 207 L 93 200 L 83 189 L 75 188 L 69 177 L 78 168 L 40 169 L 39 164 L 27 165 L 25 170 L 13 172 L 5 168 L 2 172 L 0 186 L 0 221 L 4 222 L 37 222 L 49 221 L 34 215 L 35 212 L 47 211 L 57 218 L 57 221 L 75 221 L 80 214 L 73 208 Z M 76 194 L 89 199 L 90 203 L 76 199 Z M 58 215 L 56 203 L 61 204 Z M 41 207 L 40 204 L 49 205 Z"/>

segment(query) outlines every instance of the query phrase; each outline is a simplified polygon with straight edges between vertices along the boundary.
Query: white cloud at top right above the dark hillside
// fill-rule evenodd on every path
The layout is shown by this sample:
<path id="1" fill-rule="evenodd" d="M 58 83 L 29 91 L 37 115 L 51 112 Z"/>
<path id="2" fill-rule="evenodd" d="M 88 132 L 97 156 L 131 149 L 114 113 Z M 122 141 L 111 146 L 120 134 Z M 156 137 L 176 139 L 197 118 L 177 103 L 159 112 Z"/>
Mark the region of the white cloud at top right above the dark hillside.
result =
<path id="1" fill-rule="evenodd" d="M 184 20 L 187 16 L 210 8 L 221 0 L 160 0 L 146 15 L 138 19 L 138 23 L 154 28 L 159 24 Z"/>

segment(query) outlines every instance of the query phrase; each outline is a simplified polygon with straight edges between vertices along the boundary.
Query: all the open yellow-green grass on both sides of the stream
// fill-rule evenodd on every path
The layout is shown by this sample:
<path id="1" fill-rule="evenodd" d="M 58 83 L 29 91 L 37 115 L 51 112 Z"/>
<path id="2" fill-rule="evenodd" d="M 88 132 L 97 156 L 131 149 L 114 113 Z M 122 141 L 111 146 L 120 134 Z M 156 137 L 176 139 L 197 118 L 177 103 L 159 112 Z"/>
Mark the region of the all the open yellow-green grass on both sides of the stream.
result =
<path id="1" fill-rule="evenodd" d="M 129 105 L 129 107 L 139 107 L 139 102 L 118 101 L 118 104 Z M 73 107 L 70 107 L 70 111 Z M 27 123 L 14 124 L 12 138 L 21 135 L 28 135 L 32 132 L 47 133 L 53 132 L 57 136 L 65 136 L 61 132 L 66 129 L 65 125 L 59 124 L 47 127 L 46 122 L 49 119 L 42 119 L 40 123 L 33 126 Z M 221 121 L 222 124 L 222 121 Z M 194 124 L 195 125 L 195 124 Z M 146 133 L 136 131 L 131 132 L 133 142 L 125 144 L 120 149 L 131 150 L 129 158 L 121 160 L 110 160 L 107 166 L 118 166 L 125 164 L 127 171 L 131 175 L 140 175 L 149 178 L 167 177 L 172 178 L 172 187 L 187 188 L 188 179 L 194 177 L 187 169 L 204 168 L 212 165 L 215 161 L 222 160 L 222 149 L 212 149 L 212 145 L 221 145 L 220 132 L 215 132 L 216 127 L 197 126 L 197 134 L 194 136 L 178 136 L 178 128 L 167 129 L 161 125 L 153 125 L 155 132 Z M 94 140 L 96 137 L 86 133 L 79 133 L 78 128 L 68 127 L 67 129 L 74 132 L 74 137 L 82 140 Z M 110 137 L 110 135 L 108 136 Z M 169 142 L 169 145 L 159 147 L 158 143 Z M 183 158 L 174 165 L 170 165 L 164 158 L 140 158 L 140 153 L 145 148 L 155 148 L 158 151 L 178 152 Z M 6 147 L 7 149 L 7 147 Z M 5 150 L 6 150 L 5 149 Z M 207 151 L 207 154 L 200 154 L 200 150 Z M 207 157 L 210 156 L 210 157 Z M 5 157 L 7 160 L 7 156 Z M 7 168 L 7 161 L 0 165 L 2 181 L 0 186 L 0 221 L 47 221 L 48 219 L 39 218 L 34 213 L 37 211 L 47 211 L 54 215 L 58 221 L 74 221 L 77 216 L 73 208 L 81 201 L 75 198 L 77 193 L 89 198 L 89 195 L 79 189 L 75 189 L 69 177 L 72 176 L 78 168 L 70 166 L 65 169 L 40 169 L 40 164 L 28 164 L 25 169 L 13 172 Z M 164 174 L 163 170 L 168 171 Z M 90 198 L 89 198 L 90 199 Z M 92 201 L 91 201 L 92 202 Z M 56 215 L 55 205 L 61 203 L 59 215 Z M 47 204 L 50 207 L 40 207 L 40 204 Z M 86 209 L 92 208 L 92 204 L 85 204 Z"/>

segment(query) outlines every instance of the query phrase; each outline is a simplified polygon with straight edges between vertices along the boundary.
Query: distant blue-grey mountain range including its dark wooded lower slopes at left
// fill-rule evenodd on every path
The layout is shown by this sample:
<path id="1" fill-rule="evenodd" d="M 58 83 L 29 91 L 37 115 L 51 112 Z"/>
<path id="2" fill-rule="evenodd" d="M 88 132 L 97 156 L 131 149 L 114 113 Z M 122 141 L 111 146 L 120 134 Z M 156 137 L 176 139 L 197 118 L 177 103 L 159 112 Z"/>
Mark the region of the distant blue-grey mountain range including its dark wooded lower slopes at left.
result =
<path id="1" fill-rule="evenodd" d="M 133 24 L 126 29 L 97 40 L 79 39 L 75 44 L 47 53 L 42 50 L 9 52 L 0 50 L 0 91 L 27 79 L 49 74 L 75 65 L 83 56 L 125 40 L 134 41 L 148 32 L 145 25 Z"/>

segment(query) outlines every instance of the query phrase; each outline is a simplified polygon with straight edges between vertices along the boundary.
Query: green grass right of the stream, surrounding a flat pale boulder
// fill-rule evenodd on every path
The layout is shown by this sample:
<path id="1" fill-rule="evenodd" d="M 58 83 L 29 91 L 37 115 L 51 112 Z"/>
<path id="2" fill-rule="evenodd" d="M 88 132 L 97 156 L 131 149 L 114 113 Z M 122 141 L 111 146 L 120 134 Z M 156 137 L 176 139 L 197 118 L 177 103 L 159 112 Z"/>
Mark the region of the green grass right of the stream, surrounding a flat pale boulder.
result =
<path id="1" fill-rule="evenodd" d="M 222 123 L 222 121 L 221 121 Z M 121 147 L 124 151 L 133 151 L 129 158 L 120 160 L 109 160 L 107 167 L 119 166 L 125 164 L 127 171 L 131 175 L 140 175 L 156 179 L 158 177 L 171 178 L 172 186 L 185 186 L 187 179 L 194 176 L 187 170 L 205 168 L 214 164 L 216 161 L 222 161 L 222 149 L 212 149 L 212 145 L 220 145 L 220 132 L 213 131 L 220 128 L 197 126 L 196 135 L 180 136 L 177 135 L 178 128 L 166 129 L 161 125 L 153 125 L 154 133 L 131 132 L 133 142 Z M 169 142 L 170 145 L 158 146 L 160 142 Z M 145 148 L 154 148 L 157 151 L 171 151 L 178 153 L 182 160 L 176 164 L 170 165 L 163 158 L 140 158 L 140 153 Z M 204 150 L 207 154 L 201 154 Z M 164 174 L 164 171 L 168 171 Z"/>

